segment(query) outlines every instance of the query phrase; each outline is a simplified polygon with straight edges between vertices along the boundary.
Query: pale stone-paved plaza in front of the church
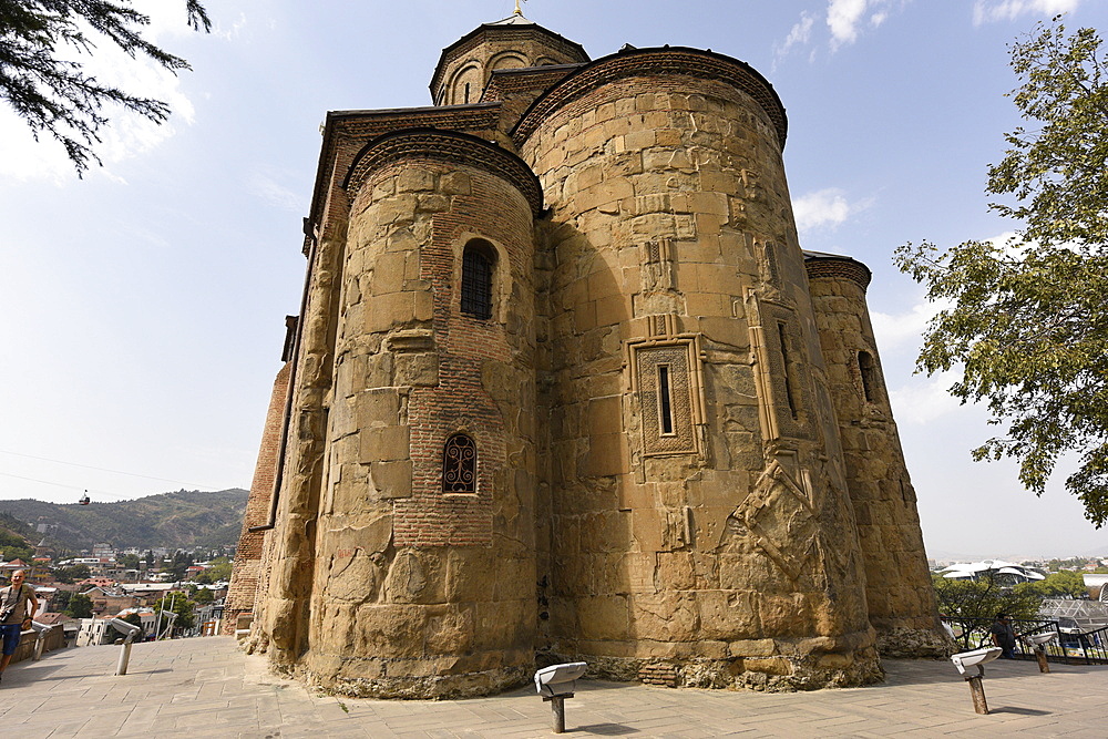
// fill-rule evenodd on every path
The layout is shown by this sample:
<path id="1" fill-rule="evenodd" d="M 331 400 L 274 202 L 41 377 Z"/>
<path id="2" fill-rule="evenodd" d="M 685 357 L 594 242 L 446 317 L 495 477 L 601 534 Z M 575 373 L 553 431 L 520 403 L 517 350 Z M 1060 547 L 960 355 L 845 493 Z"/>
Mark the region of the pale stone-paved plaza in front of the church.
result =
<path id="1" fill-rule="evenodd" d="M 551 711 L 521 688 L 493 698 L 336 698 L 277 679 L 229 637 L 69 648 L 12 665 L 0 684 L 0 736 L 42 737 L 548 737 Z M 988 667 L 988 716 L 950 663 L 885 660 L 888 680 L 804 694 L 671 690 L 583 680 L 566 701 L 566 736 L 1028 737 L 1108 736 L 1108 667 L 1030 661 Z"/>

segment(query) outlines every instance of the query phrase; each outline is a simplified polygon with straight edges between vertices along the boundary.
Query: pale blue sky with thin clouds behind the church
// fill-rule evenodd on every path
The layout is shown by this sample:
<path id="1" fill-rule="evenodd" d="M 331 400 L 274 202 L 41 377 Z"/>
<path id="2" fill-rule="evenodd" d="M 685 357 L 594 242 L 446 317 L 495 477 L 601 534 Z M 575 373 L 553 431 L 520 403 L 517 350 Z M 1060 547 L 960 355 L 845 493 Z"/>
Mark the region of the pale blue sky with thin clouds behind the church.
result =
<path id="1" fill-rule="evenodd" d="M 326 111 L 429 104 L 440 50 L 514 0 L 227 0 L 208 3 L 211 35 L 185 28 L 183 0 L 135 4 L 193 71 L 106 49 L 85 61 L 170 101 L 166 125 L 116 117 L 104 167 L 78 179 L 59 147 L 0 111 L 0 499 L 248 487 L 284 316 L 298 310 Z M 624 43 L 710 48 L 773 83 L 801 244 L 874 273 L 870 308 L 932 556 L 1108 555 L 1108 533 L 1060 479 L 1036 499 L 1014 465 L 971 461 L 996 430 L 944 393 L 950 378 L 913 374 L 930 308 L 891 261 L 905 242 L 1018 227 L 983 192 L 1018 125 L 1006 45 L 1057 12 L 1106 28 L 1108 4 L 531 0 L 524 12 L 594 59 Z"/>

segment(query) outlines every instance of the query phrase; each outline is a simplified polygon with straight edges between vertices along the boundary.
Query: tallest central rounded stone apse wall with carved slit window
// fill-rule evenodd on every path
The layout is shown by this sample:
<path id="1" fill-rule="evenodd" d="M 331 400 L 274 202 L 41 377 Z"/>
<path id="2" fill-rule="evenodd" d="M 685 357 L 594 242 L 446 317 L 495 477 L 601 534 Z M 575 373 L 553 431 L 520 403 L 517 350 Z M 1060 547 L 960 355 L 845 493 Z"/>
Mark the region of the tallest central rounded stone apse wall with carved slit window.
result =
<path id="1" fill-rule="evenodd" d="M 546 110 L 521 154 L 553 207 L 551 651 L 683 685 L 879 678 L 773 122 L 676 74 Z"/>

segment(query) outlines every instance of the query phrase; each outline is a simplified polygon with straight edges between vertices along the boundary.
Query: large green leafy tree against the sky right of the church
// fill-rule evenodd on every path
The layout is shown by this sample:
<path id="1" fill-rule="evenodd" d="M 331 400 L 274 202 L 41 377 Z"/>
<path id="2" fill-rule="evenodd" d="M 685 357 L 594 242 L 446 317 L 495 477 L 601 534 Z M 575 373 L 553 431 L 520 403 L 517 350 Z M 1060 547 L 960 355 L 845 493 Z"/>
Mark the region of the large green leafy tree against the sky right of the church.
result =
<path id="1" fill-rule="evenodd" d="M 1067 490 L 1097 526 L 1108 521 L 1108 64 L 1094 29 L 1067 34 L 1057 17 L 1010 48 L 1032 122 L 1006 135 L 988 170 L 989 205 L 1018 219 L 1007 244 L 897 249 L 899 267 L 948 304 L 924 335 L 927 373 L 963 369 L 950 392 L 984 401 L 1004 435 L 976 460 L 1013 458 L 1042 494 L 1063 454 L 1079 469 Z"/>

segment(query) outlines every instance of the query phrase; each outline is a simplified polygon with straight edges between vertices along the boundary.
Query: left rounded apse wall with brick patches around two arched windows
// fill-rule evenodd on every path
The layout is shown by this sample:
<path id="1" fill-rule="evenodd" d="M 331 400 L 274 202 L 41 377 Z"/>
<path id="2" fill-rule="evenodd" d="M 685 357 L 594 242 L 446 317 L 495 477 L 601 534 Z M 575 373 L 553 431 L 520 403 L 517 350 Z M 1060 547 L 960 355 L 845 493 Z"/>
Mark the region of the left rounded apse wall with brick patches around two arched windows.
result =
<path id="1" fill-rule="evenodd" d="M 369 173 L 341 276 L 309 651 L 316 679 L 389 697 L 485 694 L 534 664 L 531 206 L 475 167 Z M 496 250 L 494 310 L 460 310 L 461 254 Z M 442 487 L 476 441 L 475 494 Z"/>

